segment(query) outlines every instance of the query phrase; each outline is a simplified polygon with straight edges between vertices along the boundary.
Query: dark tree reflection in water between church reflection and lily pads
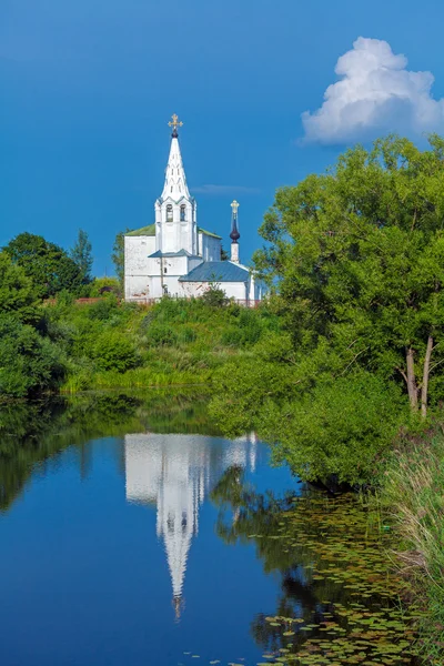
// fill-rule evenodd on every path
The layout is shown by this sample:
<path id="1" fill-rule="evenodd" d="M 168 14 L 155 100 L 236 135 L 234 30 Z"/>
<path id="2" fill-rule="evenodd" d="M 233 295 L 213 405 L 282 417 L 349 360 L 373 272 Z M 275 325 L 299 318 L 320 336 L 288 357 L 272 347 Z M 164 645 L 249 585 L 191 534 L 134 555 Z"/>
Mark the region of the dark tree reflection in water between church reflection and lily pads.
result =
<path id="1" fill-rule="evenodd" d="M 305 487 L 304 491 L 303 511 L 310 512 L 311 497 L 319 506 L 320 497 L 324 493 L 312 487 Z M 280 576 L 281 594 L 278 607 L 269 615 L 303 618 L 305 623 L 319 624 L 325 613 L 332 612 L 335 603 L 344 602 L 343 588 L 326 579 L 313 581 L 312 567 L 321 564 L 321 557 L 313 553 L 313 548 L 304 543 L 297 544 L 297 534 L 294 534 L 296 543 L 293 542 L 291 547 L 285 538 L 280 537 L 283 534 L 282 526 L 285 525 L 285 514 L 297 507 L 300 498 L 294 497 L 294 494 L 276 497 L 270 491 L 264 494 L 256 493 L 254 487 L 245 482 L 244 470 L 233 466 L 221 477 L 211 498 L 219 507 L 218 535 L 225 543 L 233 545 L 254 542 L 264 572 Z M 322 528 L 316 528 L 315 524 L 311 525 L 310 534 L 313 534 L 314 539 L 322 542 Z M 325 599 L 329 599 L 329 603 Z M 306 634 L 300 633 L 290 623 L 287 628 L 295 632 L 289 638 L 294 647 L 305 642 Z M 272 626 L 263 614 L 254 618 L 251 630 L 255 642 L 268 652 L 279 650 L 286 644 L 282 626 Z"/>

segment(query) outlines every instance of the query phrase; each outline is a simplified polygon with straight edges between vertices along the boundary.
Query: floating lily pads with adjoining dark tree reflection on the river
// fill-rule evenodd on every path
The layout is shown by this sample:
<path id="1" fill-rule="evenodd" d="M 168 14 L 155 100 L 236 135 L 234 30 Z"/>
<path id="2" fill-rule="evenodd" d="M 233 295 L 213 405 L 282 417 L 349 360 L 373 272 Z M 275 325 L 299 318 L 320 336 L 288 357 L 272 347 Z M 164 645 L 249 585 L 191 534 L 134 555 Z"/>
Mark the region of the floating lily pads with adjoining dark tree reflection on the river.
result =
<path id="1" fill-rule="evenodd" d="M 387 557 L 391 535 L 356 495 L 311 491 L 278 501 L 255 495 L 231 470 L 212 497 L 221 537 L 251 539 L 264 569 L 282 578 L 278 609 L 251 627 L 263 664 L 413 663 L 423 613 L 403 609 L 410 585 Z"/>

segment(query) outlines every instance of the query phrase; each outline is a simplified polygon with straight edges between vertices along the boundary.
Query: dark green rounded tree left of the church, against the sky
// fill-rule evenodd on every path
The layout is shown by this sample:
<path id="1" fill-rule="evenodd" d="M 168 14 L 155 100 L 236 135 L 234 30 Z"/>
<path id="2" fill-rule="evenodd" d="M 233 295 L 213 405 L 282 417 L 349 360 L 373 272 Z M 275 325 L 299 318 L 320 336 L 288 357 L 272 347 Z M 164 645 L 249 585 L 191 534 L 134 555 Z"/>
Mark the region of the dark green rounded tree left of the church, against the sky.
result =
<path id="1" fill-rule="evenodd" d="M 42 236 L 21 233 L 3 248 L 12 262 L 21 266 L 42 299 L 62 290 L 77 291 L 82 273 L 67 252 Z"/>

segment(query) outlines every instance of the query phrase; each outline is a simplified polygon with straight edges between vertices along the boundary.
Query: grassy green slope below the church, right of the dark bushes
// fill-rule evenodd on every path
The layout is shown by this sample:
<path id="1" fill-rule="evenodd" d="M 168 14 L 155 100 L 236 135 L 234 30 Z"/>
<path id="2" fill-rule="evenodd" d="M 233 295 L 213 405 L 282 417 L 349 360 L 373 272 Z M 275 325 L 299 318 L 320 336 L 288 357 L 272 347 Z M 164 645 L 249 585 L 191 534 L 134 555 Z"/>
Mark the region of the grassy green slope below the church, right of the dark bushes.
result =
<path id="1" fill-rule="evenodd" d="M 67 359 L 63 393 L 208 384 L 279 327 L 266 307 L 163 299 L 145 309 L 115 297 L 47 307 L 49 334 Z"/>

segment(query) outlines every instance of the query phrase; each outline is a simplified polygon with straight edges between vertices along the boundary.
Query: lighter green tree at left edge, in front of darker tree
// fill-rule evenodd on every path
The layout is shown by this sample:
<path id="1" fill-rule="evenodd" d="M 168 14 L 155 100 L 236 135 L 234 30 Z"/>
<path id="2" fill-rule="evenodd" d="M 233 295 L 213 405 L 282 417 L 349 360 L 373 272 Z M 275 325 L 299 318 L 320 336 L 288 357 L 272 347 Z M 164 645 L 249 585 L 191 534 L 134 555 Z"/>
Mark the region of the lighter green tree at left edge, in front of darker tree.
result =
<path id="1" fill-rule="evenodd" d="M 38 297 L 32 281 L 21 266 L 0 252 L 0 314 L 13 314 L 26 323 L 39 319 Z"/>

